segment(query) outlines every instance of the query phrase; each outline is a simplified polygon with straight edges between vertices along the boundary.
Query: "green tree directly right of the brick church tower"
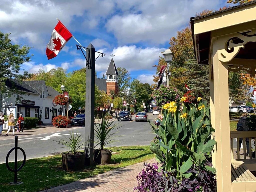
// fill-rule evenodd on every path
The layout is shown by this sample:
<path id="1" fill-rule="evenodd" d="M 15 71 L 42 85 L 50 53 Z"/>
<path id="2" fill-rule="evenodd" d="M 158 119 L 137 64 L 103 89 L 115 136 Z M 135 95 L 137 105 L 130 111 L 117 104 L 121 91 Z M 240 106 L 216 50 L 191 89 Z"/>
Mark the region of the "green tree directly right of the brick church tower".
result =
<path id="1" fill-rule="evenodd" d="M 122 96 L 124 91 L 127 91 L 127 89 L 130 86 L 131 83 L 131 76 L 128 70 L 125 68 L 118 67 L 118 87 L 119 87 L 119 97 Z"/>

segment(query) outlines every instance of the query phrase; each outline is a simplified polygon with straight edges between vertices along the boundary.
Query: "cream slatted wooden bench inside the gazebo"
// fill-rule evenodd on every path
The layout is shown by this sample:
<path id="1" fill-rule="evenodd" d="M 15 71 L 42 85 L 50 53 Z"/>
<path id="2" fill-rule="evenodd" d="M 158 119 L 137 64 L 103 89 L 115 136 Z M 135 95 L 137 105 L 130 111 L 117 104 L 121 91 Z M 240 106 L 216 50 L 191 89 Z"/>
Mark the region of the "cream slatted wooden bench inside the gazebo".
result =
<path id="1" fill-rule="evenodd" d="M 256 191 L 256 177 L 250 172 L 243 161 L 231 161 L 231 180 L 232 192 Z"/>

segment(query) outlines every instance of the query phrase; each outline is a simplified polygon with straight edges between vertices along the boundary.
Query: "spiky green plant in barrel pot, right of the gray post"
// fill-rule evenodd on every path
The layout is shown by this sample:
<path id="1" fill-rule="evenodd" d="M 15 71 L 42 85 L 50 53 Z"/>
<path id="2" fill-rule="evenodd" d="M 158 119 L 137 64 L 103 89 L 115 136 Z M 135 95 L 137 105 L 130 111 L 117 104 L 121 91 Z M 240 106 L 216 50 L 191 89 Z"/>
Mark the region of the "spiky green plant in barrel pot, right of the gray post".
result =
<path id="1" fill-rule="evenodd" d="M 109 164 L 111 161 L 112 151 L 105 148 L 106 145 L 113 146 L 116 142 L 116 130 L 119 129 L 118 124 L 114 120 L 106 119 L 104 116 L 100 119 L 99 124 L 94 127 L 94 162 L 98 164 Z M 99 149 L 95 149 L 100 147 Z"/>

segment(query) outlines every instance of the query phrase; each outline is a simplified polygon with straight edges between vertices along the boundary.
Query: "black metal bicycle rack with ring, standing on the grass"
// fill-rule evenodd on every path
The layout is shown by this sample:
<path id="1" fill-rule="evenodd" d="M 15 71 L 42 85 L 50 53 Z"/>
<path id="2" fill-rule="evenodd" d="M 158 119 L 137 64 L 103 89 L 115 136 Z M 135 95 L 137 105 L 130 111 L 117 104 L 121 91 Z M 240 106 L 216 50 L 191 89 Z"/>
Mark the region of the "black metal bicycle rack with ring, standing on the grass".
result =
<path id="1" fill-rule="evenodd" d="M 19 149 L 20 151 L 22 151 L 23 156 L 24 156 L 23 163 L 22 163 L 22 165 L 21 165 L 19 168 L 17 168 L 17 166 L 18 166 L 18 165 L 17 165 L 17 164 L 18 164 L 18 162 L 17 162 L 18 149 Z M 8 165 L 8 158 L 9 158 L 9 155 L 12 153 L 13 150 L 15 150 L 14 169 L 11 169 L 11 168 L 9 167 L 9 165 Z M 7 156 L 6 156 L 6 159 L 5 159 L 5 164 L 6 164 L 7 169 L 8 169 L 9 171 L 11 171 L 11 172 L 14 172 L 14 182 L 10 182 L 10 184 L 13 184 L 13 185 L 20 185 L 20 184 L 23 184 L 23 182 L 20 182 L 20 181 L 17 182 L 17 172 L 18 172 L 20 169 L 22 169 L 22 167 L 24 166 L 25 162 L 26 162 L 26 154 L 25 154 L 25 151 L 24 151 L 22 148 L 18 147 L 18 136 L 15 136 L 15 147 L 12 148 L 12 149 L 8 152 L 8 154 L 7 154 Z"/>

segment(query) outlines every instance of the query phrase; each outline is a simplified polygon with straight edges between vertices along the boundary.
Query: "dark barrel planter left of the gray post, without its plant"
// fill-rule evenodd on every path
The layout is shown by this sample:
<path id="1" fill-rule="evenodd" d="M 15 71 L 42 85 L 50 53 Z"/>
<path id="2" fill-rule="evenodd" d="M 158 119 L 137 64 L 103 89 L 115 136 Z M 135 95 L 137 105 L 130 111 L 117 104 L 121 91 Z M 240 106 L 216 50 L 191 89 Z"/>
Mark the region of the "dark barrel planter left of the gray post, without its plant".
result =
<path id="1" fill-rule="evenodd" d="M 80 152 L 81 154 L 71 155 L 62 153 L 62 165 L 64 170 L 80 170 L 84 168 L 86 154 Z"/>

